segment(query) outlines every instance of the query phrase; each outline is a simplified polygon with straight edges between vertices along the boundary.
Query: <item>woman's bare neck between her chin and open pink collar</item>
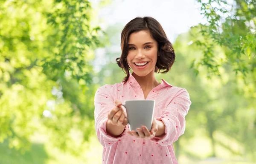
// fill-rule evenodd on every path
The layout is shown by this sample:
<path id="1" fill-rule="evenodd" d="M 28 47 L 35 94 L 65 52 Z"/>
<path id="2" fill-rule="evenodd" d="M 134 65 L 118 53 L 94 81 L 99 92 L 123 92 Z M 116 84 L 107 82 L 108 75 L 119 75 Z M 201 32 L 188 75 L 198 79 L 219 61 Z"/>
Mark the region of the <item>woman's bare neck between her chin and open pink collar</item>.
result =
<path id="1" fill-rule="evenodd" d="M 141 89 L 144 90 L 152 90 L 157 85 L 160 84 L 160 82 L 157 81 L 154 70 L 152 70 L 149 74 L 146 76 L 138 76 L 134 72 L 132 73 L 132 76 L 136 79 L 136 81 L 139 83 Z"/>

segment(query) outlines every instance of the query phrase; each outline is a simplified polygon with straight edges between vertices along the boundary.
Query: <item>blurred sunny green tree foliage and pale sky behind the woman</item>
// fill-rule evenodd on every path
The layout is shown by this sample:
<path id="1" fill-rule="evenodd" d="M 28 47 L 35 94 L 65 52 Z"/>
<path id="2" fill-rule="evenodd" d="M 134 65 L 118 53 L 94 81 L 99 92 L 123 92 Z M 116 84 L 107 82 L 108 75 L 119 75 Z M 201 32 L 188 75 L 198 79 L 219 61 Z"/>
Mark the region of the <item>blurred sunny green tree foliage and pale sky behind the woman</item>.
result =
<path id="1" fill-rule="evenodd" d="M 0 0 L 0 164 L 100 164 L 94 94 L 125 77 L 128 21 L 151 16 L 192 105 L 180 164 L 256 162 L 255 0 Z"/>

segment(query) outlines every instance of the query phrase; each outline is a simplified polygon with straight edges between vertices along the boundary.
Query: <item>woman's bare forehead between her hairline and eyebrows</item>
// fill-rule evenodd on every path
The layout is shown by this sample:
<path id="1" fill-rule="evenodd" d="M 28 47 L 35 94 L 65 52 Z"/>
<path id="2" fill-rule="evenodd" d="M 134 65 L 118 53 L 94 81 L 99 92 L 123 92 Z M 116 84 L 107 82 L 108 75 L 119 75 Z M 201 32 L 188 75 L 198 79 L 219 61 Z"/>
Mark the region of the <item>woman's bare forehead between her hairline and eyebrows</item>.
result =
<path id="1" fill-rule="evenodd" d="M 148 31 L 138 31 L 130 34 L 128 44 L 144 44 L 145 42 L 157 43 Z"/>

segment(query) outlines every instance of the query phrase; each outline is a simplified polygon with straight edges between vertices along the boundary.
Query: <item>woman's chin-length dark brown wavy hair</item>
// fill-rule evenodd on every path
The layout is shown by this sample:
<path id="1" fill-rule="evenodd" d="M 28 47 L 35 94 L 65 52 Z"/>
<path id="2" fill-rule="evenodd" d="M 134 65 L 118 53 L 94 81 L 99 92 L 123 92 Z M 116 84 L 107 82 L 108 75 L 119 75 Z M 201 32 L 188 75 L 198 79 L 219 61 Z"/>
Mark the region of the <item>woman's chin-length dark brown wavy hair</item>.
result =
<path id="1" fill-rule="evenodd" d="M 166 74 L 170 71 L 175 62 L 175 53 L 172 43 L 167 39 L 162 26 L 152 17 L 136 17 L 125 25 L 121 33 L 121 57 L 116 58 L 116 62 L 122 70 L 125 70 L 126 77 L 123 82 L 127 82 L 130 76 L 130 67 L 126 61 L 128 55 L 128 39 L 129 36 L 138 31 L 148 31 L 151 38 L 157 41 L 158 56 L 154 72 Z M 160 72 L 160 70 L 164 70 Z"/>

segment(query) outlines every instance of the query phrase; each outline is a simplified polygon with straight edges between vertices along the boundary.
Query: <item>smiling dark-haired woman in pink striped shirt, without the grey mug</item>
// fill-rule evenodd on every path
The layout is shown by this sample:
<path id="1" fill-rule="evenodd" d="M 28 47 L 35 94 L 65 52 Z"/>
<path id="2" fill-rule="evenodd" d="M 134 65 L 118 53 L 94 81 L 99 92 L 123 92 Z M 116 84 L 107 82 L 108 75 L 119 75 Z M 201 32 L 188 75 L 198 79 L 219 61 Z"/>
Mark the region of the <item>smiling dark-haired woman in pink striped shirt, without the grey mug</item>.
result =
<path id="1" fill-rule="evenodd" d="M 184 88 L 170 85 L 155 73 L 167 73 L 175 61 L 171 42 L 152 17 L 131 20 L 121 34 L 122 54 L 116 59 L 125 79 L 95 93 L 95 128 L 104 164 L 178 164 L 173 142 L 184 133 L 191 101 Z M 129 70 L 132 70 L 132 73 Z M 128 130 L 125 100 L 154 99 L 151 131 Z"/>

